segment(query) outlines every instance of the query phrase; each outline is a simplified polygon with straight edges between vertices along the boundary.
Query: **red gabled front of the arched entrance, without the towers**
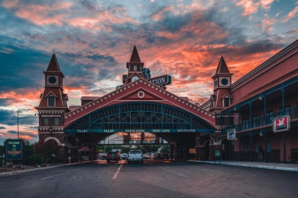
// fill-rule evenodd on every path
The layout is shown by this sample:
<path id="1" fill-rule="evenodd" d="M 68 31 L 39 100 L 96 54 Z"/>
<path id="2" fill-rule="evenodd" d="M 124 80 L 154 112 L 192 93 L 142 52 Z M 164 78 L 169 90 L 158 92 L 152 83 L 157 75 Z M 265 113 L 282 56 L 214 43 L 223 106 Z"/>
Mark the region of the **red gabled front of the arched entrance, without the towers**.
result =
<path id="1" fill-rule="evenodd" d="M 93 146 L 117 132 L 157 134 L 176 144 L 170 157 L 180 153 L 175 151 L 180 146 L 195 148 L 199 133 L 215 132 L 213 114 L 144 79 L 65 114 L 64 120 L 67 134 L 74 134 L 80 142 Z"/>

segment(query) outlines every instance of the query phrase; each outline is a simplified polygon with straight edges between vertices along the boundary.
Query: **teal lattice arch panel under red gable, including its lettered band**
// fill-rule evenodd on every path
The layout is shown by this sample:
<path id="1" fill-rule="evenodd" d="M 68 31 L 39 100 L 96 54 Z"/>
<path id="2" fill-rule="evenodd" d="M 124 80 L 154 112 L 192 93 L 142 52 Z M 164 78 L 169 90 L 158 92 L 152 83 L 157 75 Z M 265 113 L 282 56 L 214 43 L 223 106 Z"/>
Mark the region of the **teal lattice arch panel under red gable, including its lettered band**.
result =
<path id="1" fill-rule="evenodd" d="M 214 132 L 202 118 L 154 102 L 128 102 L 96 110 L 65 132 Z"/>

